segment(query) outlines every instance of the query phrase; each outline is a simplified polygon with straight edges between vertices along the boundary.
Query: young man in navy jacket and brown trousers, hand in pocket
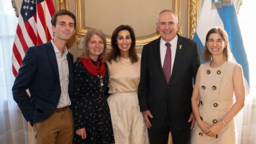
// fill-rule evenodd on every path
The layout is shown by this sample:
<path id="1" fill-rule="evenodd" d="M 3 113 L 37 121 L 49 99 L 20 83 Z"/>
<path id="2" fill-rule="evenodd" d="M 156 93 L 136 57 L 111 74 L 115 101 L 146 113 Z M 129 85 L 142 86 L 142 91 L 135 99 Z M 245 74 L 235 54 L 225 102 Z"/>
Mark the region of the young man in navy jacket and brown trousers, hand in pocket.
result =
<path id="1" fill-rule="evenodd" d="M 51 20 L 54 37 L 28 48 L 12 87 L 24 118 L 35 131 L 35 143 L 72 143 L 74 120 L 73 56 L 66 48 L 75 33 L 75 16 L 57 11 Z M 26 90 L 30 91 L 30 97 Z"/>

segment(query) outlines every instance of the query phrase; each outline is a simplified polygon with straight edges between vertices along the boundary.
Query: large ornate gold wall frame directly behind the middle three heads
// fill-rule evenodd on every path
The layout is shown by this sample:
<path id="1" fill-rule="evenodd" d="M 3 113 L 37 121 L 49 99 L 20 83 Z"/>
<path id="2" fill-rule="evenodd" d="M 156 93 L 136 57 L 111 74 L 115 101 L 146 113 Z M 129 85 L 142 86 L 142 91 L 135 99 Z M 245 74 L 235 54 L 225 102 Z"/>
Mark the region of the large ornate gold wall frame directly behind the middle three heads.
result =
<path id="1" fill-rule="evenodd" d="M 85 0 L 77 0 L 76 1 L 76 16 L 77 16 L 77 32 L 75 34 L 75 42 L 77 43 L 77 48 L 80 49 L 81 48 L 81 43 L 83 43 L 83 40 L 80 39 L 81 36 L 84 36 L 85 33 L 87 33 L 88 28 L 85 27 L 85 24 L 83 24 L 83 22 L 85 20 L 83 20 L 83 10 L 85 9 L 83 7 L 83 1 Z M 181 0 L 171 0 L 171 3 L 173 5 L 173 11 L 177 14 L 177 16 L 179 16 L 180 19 L 180 9 L 181 9 Z M 180 26 L 181 29 L 181 26 Z M 104 29 L 103 29 L 104 30 Z M 179 31 L 180 34 L 182 34 L 182 31 Z M 137 41 L 136 44 L 137 46 L 141 46 L 141 45 L 146 45 L 146 43 L 149 43 L 150 41 L 153 41 L 154 39 L 158 39 L 158 37 L 160 37 L 160 35 L 158 33 L 153 33 L 150 36 L 145 36 L 145 37 L 137 37 Z M 108 43 L 108 45 L 110 45 L 111 40 L 110 37 L 106 37 L 106 41 Z"/>

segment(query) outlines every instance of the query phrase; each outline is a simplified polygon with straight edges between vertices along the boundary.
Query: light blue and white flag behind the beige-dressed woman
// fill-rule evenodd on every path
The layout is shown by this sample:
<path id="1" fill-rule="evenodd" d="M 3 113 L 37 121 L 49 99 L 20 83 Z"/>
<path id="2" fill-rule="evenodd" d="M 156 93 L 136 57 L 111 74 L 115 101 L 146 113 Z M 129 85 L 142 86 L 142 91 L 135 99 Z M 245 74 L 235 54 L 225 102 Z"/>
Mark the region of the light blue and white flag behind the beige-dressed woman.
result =
<path id="1" fill-rule="evenodd" d="M 245 94 L 247 95 L 249 94 L 249 66 L 232 0 L 204 1 L 193 39 L 200 46 L 201 52 L 203 52 L 207 32 L 216 26 L 223 27 L 228 33 L 232 53 L 230 54 L 230 60 L 242 65 L 245 78 Z"/>

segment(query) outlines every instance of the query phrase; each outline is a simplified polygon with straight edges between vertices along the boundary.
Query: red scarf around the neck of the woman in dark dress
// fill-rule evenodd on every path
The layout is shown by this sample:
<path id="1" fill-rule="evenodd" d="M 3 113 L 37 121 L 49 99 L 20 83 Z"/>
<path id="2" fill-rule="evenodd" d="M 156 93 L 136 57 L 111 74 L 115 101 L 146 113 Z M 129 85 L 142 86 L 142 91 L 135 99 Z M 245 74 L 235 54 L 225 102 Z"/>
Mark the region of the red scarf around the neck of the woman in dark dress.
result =
<path id="1" fill-rule="evenodd" d="M 91 73 L 91 75 L 98 77 L 100 75 L 100 77 L 104 77 L 105 75 L 105 65 L 104 62 L 101 60 L 100 61 L 100 65 L 95 65 L 93 64 L 93 62 L 91 62 L 90 59 L 85 59 L 85 58 L 77 58 L 77 60 L 83 62 L 83 66 L 85 67 L 85 69 L 87 69 L 87 71 L 89 71 L 89 73 Z"/>

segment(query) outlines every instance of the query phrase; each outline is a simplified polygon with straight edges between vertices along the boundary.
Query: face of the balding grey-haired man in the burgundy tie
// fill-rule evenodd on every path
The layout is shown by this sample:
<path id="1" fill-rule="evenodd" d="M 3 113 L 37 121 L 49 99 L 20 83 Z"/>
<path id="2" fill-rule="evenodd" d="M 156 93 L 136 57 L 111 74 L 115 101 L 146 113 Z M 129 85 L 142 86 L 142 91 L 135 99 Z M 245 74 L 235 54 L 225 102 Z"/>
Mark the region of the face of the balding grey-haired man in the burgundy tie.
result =
<path id="1" fill-rule="evenodd" d="M 177 35 L 179 29 L 179 23 L 175 18 L 175 15 L 171 12 L 163 12 L 158 17 L 156 28 L 164 41 L 171 41 Z"/>

